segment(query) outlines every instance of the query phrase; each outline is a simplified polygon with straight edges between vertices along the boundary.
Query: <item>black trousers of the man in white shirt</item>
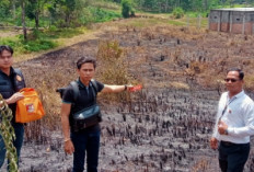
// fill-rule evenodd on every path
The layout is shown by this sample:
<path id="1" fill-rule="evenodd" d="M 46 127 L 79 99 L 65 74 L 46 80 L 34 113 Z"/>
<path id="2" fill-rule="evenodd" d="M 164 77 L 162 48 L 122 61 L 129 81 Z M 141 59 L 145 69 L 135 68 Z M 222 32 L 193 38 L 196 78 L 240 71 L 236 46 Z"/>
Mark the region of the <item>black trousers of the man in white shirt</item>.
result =
<path id="1" fill-rule="evenodd" d="M 219 164 L 222 172 L 243 172 L 250 154 L 250 144 L 220 141 Z"/>

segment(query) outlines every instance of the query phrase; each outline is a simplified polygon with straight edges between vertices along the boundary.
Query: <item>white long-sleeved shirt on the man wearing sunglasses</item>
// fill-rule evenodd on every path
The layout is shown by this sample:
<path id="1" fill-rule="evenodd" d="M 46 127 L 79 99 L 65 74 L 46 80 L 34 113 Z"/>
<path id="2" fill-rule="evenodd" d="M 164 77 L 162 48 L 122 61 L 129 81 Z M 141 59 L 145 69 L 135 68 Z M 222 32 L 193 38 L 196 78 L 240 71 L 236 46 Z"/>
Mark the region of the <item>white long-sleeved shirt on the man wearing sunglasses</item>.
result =
<path id="1" fill-rule="evenodd" d="M 224 113 L 222 115 L 222 112 Z M 228 135 L 218 133 L 218 122 L 221 118 L 228 125 Z M 217 112 L 216 126 L 212 137 L 218 140 L 234 144 L 250 142 L 254 135 L 254 102 L 244 91 L 229 99 L 229 92 L 222 93 Z"/>

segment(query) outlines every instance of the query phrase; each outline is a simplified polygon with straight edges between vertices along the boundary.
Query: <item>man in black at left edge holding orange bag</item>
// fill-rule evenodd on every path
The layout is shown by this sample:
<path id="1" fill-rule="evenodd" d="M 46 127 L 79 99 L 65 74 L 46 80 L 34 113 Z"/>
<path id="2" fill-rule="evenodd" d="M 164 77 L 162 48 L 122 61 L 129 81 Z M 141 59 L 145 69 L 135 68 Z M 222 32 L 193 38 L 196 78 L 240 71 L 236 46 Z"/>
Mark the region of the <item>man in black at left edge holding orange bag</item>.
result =
<path id="1" fill-rule="evenodd" d="M 0 46 L 0 93 L 12 111 L 12 126 L 15 133 L 15 140 L 13 141 L 16 148 L 18 159 L 20 157 L 21 147 L 23 144 L 24 125 L 15 123 L 16 101 L 24 98 L 19 91 L 25 88 L 24 77 L 19 69 L 12 68 L 13 49 L 10 46 Z M 19 72 L 18 72 L 19 71 Z M 0 168 L 5 158 L 5 146 L 0 135 Z M 19 161 L 18 161 L 19 162 Z"/>

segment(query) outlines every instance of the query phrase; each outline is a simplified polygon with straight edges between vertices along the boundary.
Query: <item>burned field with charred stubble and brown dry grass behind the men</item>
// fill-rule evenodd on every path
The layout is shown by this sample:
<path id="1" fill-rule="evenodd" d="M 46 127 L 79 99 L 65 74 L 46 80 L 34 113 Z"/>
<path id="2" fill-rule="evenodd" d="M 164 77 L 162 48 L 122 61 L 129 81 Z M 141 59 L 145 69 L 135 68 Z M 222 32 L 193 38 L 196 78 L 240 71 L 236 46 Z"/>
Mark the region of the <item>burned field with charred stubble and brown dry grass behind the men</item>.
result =
<path id="1" fill-rule="evenodd" d="M 18 64 L 27 84 L 44 93 L 48 112 L 42 122 L 26 126 L 21 171 L 70 171 L 72 157 L 64 153 L 60 99 L 55 89 L 76 78 L 74 61 L 80 56 L 97 57 L 100 44 L 113 43 L 124 51 L 129 77 L 142 83 L 143 90 L 123 94 L 118 102 L 99 95 L 104 115 L 99 171 L 218 171 L 217 151 L 209 148 L 209 138 L 223 91 L 221 80 L 228 67 L 243 68 L 251 76 L 246 77 L 247 93 L 254 98 L 250 84 L 253 39 L 169 25 L 135 27 L 119 22 L 104 27 L 95 39 Z M 107 47 L 103 50 L 113 55 L 114 48 Z M 103 79 L 100 68 L 106 66 L 99 60 L 99 80 Z M 124 69 L 113 72 L 120 70 Z M 253 154 L 254 150 L 246 172 L 254 170 Z"/>

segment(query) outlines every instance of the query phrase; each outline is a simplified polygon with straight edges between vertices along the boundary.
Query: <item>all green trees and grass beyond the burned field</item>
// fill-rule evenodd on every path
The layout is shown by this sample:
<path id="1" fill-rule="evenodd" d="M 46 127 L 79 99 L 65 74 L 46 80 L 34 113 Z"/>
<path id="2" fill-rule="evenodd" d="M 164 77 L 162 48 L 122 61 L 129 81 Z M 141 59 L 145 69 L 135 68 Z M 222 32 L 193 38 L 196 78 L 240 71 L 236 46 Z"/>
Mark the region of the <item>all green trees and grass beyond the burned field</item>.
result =
<path id="1" fill-rule="evenodd" d="M 197 18 L 207 18 L 210 9 L 253 3 L 253 0 L 1 0 L 0 26 L 24 27 L 23 35 L 0 37 L 0 44 L 13 46 L 18 54 L 47 50 L 61 44 L 58 38 L 82 34 L 83 27 L 91 23 L 135 16 L 135 11 L 145 15 L 165 13 L 164 19 L 171 20 L 163 22 L 174 25 L 206 26 L 207 21 L 197 24 Z M 149 25 L 159 20 L 149 22 L 135 25 Z"/>

